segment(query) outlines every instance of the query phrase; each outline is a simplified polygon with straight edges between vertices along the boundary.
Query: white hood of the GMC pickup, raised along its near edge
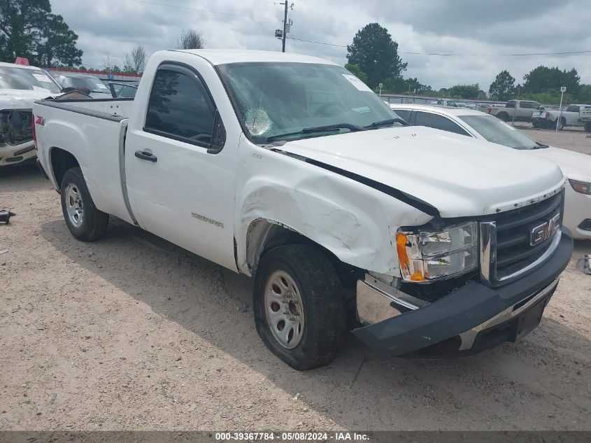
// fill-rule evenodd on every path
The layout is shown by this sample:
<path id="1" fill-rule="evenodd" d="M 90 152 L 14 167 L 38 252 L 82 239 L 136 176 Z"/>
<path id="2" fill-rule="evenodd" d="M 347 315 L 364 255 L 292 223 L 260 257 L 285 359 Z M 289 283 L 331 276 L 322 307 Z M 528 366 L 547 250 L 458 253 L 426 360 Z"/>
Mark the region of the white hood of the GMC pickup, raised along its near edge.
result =
<path id="1" fill-rule="evenodd" d="M 427 127 L 391 127 L 288 141 L 279 150 L 371 178 L 434 206 L 479 216 L 548 197 L 564 185 L 556 164 Z"/>

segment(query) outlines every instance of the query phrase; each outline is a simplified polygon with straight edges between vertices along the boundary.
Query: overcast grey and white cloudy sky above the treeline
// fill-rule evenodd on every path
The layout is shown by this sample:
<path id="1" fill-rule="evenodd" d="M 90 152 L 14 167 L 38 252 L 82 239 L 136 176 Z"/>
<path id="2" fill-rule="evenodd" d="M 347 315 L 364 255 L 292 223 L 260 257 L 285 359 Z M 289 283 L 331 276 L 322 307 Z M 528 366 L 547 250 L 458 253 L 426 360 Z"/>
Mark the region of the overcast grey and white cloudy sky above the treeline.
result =
<path id="1" fill-rule="evenodd" d="M 122 59 L 134 44 L 143 45 L 148 53 L 175 48 L 180 31 L 190 28 L 201 31 L 208 48 L 280 50 L 281 45 L 274 31 L 282 26 L 283 6 L 271 0 L 53 0 L 52 8 L 78 34 L 87 66 L 100 67 L 106 56 Z M 521 81 L 525 73 L 541 64 L 574 67 L 582 83 L 591 83 L 591 53 L 490 56 L 590 50 L 588 0 L 294 0 L 290 17 L 294 21 L 292 37 L 335 45 L 350 44 L 357 30 L 378 22 L 399 43 L 401 57 L 408 62 L 404 75 L 436 88 L 480 83 L 487 90 L 501 69 L 508 69 Z M 346 63 L 346 48 L 338 46 L 288 40 L 287 50 Z"/>

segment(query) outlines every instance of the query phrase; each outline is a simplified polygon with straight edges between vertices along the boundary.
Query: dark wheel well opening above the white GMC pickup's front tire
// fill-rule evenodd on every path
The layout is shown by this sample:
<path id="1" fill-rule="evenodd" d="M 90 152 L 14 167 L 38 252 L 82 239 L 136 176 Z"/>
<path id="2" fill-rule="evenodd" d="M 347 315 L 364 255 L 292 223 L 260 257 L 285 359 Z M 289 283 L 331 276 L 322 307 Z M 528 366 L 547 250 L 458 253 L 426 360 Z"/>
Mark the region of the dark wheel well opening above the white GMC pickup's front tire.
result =
<path id="1" fill-rule="evenodd" d="M 363 269 L 341 262 L 334 253 L 299 232 L 280 223 L 258 219 L 250 224 L 246 235 L 246 260 L 252 275 L 256 274 L 259 260 L 266 251 L 286 244 L 308 244 L 318 248 L 334 265 L 343 288 L 355 288 L 357 280 L 365 274 Z"/>

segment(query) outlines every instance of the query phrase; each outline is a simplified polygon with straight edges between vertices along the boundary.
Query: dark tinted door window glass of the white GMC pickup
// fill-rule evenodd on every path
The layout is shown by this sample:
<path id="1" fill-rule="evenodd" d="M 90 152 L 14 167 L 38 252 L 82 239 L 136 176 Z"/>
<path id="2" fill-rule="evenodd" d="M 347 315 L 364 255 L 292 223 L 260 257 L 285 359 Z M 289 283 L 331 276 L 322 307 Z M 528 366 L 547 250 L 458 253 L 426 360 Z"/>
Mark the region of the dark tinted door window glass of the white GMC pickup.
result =
<path id="1" fill-rule="evenodd" d="M 209 145 L 215 111 L 204 86 L 196 76 L 162 68 L 156 73 L 145 130 Z"/>

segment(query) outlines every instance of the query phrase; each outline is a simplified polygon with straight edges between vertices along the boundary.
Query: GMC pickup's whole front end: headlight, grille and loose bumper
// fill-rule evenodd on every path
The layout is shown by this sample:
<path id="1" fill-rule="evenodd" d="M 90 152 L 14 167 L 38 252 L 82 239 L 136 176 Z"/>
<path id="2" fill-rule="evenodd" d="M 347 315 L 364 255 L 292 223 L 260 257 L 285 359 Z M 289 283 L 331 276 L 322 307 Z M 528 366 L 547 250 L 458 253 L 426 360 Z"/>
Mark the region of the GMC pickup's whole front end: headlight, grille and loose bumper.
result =
<path id="1" fill-rule="evenodd" d="M 440 232 L 399 230 L 401 277 L 357 281 L 362 327 L 353 334 L 384 357 L 464 356 L 521 339 L 538 325 L 571 258 L 563 201 L 560 192 Z M 547 237 L 536 243 L 529 234 L 541 223 Z"/>

